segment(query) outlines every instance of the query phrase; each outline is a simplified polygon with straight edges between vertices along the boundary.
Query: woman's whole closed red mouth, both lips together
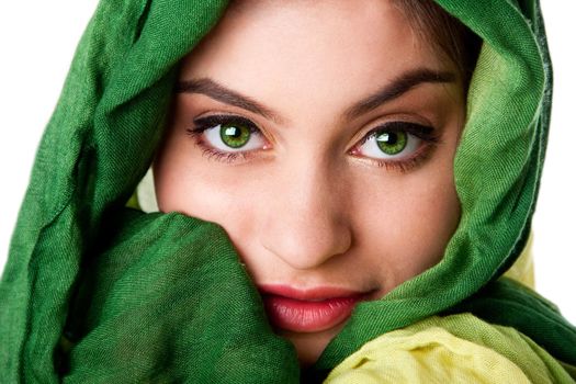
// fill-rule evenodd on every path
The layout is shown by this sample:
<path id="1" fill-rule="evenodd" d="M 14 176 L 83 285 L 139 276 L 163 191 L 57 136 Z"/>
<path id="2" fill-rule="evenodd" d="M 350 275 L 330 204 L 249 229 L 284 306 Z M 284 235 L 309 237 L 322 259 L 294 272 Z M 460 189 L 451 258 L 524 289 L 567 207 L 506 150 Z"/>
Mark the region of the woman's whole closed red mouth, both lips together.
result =
<path id="1" fill-rule="evenodd" d="M 365 294 L 342 289 L 296 290 L 285 285 L 259 286 L 273 326 L 295 332 L 317 332 L 345 321 Z"/>

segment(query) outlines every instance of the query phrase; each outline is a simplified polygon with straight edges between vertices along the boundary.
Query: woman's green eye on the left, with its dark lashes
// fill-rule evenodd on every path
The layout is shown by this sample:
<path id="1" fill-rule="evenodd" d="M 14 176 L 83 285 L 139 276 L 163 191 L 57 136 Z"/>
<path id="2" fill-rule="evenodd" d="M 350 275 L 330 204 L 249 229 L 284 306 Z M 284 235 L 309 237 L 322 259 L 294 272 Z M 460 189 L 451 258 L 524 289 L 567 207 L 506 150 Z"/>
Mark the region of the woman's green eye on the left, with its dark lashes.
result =
<path id="1" fill-rule="evenodd" d="M 221 153 L 245 153 L 264 149 L 267 140 L 249 120 L 231 115 L 214 115 L 194 120 L 192 134 L 204 145 Z"/>

